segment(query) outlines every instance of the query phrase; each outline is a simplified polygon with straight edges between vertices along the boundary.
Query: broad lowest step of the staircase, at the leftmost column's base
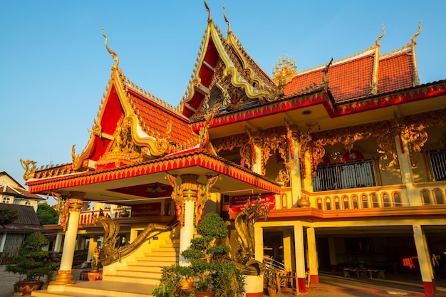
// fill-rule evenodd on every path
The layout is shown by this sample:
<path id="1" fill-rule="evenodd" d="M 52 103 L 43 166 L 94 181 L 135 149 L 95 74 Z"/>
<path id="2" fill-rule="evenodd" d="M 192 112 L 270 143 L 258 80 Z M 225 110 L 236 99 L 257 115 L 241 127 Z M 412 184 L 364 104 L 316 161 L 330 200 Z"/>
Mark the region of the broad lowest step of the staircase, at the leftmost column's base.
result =
<path id="1" fill-rule="evenodd" d="M 155 285 L 118 283 L 114 281 L 83 281 L 66 286 L 62 292 L 33 291 L 33 297 L 152 297 Z"/>

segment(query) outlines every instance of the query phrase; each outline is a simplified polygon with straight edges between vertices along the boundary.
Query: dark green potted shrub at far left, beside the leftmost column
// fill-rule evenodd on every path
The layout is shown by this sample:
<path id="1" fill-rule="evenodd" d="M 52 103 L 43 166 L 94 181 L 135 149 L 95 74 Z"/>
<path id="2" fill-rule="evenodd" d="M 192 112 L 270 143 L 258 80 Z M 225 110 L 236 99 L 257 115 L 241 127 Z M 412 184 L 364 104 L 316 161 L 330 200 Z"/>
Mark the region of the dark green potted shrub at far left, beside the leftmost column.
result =
<path id="1" fill-rule="evenodd" d="M 51 280 L 54 269 L 52 254 L 51 251 L 42 251 L 42 247 L 47 244 L 48 239 L 41 232 L 31 234 L 14 256 L 13 264 L 6 265 L 6 271 L 20 274 L 19 281 L 15 284 L 17 291 L 30 294 L 41 288 L 41 278 L 46 276 L 47 281 Z"/>

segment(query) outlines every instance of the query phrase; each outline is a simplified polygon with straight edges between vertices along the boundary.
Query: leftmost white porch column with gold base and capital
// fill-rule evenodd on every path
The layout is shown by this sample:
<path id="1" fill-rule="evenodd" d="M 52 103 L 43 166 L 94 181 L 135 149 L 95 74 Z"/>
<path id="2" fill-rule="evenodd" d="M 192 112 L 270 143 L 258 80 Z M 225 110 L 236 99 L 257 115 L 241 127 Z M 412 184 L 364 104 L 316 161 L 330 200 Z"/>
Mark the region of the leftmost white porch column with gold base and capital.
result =
<path id="1" fill-rule="evenodd" d="M 71 269 L 73 268 L 74 250 L 76 248 L 76 236 L 78 235 L 79 217 L 83 207 L 83 192 L 71 192 L 68 208 L 68 224 L 66 225 L 65 241 L 63 241 L 63 253 L 61 266 L 55 281 L 51 281 L 48 291 L 63 291 L 65 285 L 76 283 L 73 281 Z"/>

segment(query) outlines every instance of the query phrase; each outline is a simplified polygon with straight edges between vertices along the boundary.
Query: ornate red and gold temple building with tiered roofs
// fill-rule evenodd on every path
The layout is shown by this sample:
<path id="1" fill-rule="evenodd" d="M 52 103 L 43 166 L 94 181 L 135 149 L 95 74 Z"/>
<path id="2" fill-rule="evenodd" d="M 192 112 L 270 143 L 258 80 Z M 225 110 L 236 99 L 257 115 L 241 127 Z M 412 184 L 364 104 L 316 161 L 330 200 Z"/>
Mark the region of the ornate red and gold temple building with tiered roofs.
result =
<path id="1" fill-rule="evenodd" d="M 160 266 L 185 261 L 203 214 L 227 220 L 237 249 L 231 222 L 260 199 L 269 214 L 254 224 L 252 257 L 274 259 L 296 291 L 318 286 L 321 271 L 415 271 L 435 293 L 431 253 L 446 252 L 446 80 L 420 83 L 421 24 L 393 52 L 380 52 L 383 27 L 360 53 L 300 72 L 284 56 L 270 76 L 226 14 L 223 32 L 207 10 L 178 106 L 132 83 L 104 35 L 114 64 L 88 144 L 64 165 L 24 162 L 29 192 L 55 197 L 61 214 L 46 226 L 63 250 L 48 291 L 75 291 L 74 251 L 90 259 L 98 245 L 111 253 L 103 281 L 155 285 Z M 99 214 L 120 226 L 113 236 Z M 141 239 L 150 223 L 155 236 Z M 250 282 L 247 296 L 263 296 L 263 283 Z"/>

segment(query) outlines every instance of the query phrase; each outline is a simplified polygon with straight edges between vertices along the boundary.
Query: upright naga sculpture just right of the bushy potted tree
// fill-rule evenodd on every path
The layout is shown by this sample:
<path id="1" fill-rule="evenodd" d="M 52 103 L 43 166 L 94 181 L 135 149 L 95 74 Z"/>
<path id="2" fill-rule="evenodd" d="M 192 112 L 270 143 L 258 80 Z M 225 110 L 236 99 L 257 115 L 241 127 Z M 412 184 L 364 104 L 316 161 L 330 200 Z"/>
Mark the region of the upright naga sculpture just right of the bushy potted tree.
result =
<path id="1" fill-rule="evenodd" d="M 261 195 L 259 194 L 256 204 L 251 206 L 251 199 L 248 199 L 247 207 L 234 219 L 234 226 L 239 236 L 237 239 L 239 247 L 234 256 L 234 265 L 245 275 L 258 276 L 265 272 L 265 264 L 254 259 L 254 224 L 261 217 L 267 219 L 268 214 L 269 201 L 266 202 L 264 210 L 261 210 Z"/>

